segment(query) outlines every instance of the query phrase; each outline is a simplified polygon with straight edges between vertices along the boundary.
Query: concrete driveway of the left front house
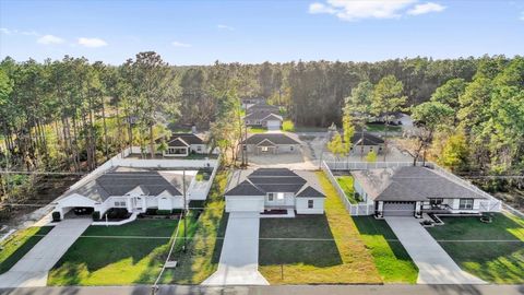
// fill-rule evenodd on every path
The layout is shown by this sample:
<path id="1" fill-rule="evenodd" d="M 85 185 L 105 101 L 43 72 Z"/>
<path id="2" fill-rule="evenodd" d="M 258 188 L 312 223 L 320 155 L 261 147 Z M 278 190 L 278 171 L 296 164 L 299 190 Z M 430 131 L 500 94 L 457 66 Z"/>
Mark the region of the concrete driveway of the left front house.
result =
<path id="1" fill-rule="evenodd" d="M 11 270 L 0 275 L 0 287 L 46 286 L 48 271 L 92 222 L 74 219 L 58 223 Z"/>

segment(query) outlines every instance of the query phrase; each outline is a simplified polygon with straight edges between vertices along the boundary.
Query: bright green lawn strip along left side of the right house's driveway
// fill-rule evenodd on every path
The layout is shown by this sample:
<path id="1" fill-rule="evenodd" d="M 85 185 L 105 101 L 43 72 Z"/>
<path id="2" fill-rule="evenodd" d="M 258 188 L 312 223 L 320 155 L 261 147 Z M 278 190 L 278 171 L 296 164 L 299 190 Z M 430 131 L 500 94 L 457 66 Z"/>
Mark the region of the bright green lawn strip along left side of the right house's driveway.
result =
<path id="1" fill-rule="evenodd" d="M 385 221 L 373 216 L 354 216 L 353 220 L 385 283 L 417 282 L 417 266 Z"/>

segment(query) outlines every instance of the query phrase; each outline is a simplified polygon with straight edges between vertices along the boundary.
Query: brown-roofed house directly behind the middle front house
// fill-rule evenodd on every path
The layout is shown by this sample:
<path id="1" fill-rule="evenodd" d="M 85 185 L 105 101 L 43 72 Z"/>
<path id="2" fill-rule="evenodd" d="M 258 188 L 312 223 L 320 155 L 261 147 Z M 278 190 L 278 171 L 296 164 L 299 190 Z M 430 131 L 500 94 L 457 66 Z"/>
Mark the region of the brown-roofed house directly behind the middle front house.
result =
<path id="1" fill-rule="evenodd" d="M 241 142 L 242 149 L 254 154 L 297 153 L 300 143 L 285 133 L 257 133 Z"/>

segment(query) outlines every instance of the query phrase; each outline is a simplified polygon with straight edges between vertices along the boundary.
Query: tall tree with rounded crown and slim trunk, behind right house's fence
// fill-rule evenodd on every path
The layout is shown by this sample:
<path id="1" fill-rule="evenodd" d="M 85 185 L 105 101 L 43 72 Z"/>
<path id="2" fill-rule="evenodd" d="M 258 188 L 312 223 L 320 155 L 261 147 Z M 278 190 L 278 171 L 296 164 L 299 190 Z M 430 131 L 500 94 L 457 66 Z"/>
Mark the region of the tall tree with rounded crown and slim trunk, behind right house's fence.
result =
<path id="1" fill-rule="evenodd" d="M 388 154 L 388 130 L 395 111 L 402 110 L 407 97 L 402 95 L 404 86 L 392 74 L 382 78 L 373 90 L 372 109 L 373 115 L 383 117 L 384 120 L 384 162 Z"/>

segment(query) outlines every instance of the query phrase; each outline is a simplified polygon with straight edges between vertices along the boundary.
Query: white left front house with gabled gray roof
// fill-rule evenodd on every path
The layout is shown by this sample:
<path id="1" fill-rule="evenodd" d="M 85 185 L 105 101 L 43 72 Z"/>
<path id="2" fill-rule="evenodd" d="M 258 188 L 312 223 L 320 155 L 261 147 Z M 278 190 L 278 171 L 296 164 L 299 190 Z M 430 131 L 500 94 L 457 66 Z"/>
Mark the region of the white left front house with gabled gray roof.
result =
<path id="1" fill-rule="evenodd" d="M 186 177 L 184 177 L 186 175 Z M 192 200 L 196 170 L 152 170 L 114 167 L 56 201 L 60 216 L 73 209 L 97 211 L 100 216 L 111 208 L 143 213 L 147 209 L 171 211 Z M 196 193 L 194 199 L 201 199 Z M 205 198 L 205 197 L 204 197 Z"/>

